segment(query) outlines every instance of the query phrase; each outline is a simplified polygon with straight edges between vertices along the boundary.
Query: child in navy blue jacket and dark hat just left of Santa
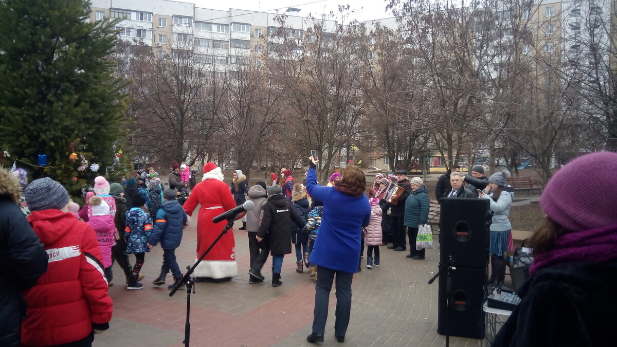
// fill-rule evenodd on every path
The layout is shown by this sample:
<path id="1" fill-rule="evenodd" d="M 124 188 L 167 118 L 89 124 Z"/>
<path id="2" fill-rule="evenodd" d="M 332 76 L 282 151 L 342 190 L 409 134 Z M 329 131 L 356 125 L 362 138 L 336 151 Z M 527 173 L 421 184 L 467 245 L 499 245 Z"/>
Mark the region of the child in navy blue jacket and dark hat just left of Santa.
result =
<path id="1" fill-rule="evenodd" d="M 173 289 L 182 279 L 183 275 L 176 261 L 176 248 L 182 241 L 182 230 L 187 225 L 188 215 L 178 201 L 176 201 L 175 188 L 165 188 L 163 191 L 164 202 L 156 213 L 154 230 L 148 238 L 148 248 L 156 246 L 160 241 L 163 248 L 163 265 L 160 268 L 159 278 L 154 280 L 155 285 L 164 285 L 167 273 L 172 270 L 173 284 L 167 288 Z"/>

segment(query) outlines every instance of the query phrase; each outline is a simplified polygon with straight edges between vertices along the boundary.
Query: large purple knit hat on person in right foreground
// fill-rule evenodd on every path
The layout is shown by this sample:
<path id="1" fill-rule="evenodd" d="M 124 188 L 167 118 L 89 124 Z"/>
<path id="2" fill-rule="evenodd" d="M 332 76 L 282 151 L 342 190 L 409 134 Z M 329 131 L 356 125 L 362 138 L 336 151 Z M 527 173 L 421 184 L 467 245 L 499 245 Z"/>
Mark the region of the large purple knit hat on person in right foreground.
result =
<path id="1" fill-rule="evenodd" d="M 617 186 L 610 183 L 615 172 L 617 153 L 578 157 L 551 178 L 540 198 L 540 207 L 547 217 L 573 232 L 617 224 Z M 575 193 L 573 185 L 583 177 L 589 184 Z"/>

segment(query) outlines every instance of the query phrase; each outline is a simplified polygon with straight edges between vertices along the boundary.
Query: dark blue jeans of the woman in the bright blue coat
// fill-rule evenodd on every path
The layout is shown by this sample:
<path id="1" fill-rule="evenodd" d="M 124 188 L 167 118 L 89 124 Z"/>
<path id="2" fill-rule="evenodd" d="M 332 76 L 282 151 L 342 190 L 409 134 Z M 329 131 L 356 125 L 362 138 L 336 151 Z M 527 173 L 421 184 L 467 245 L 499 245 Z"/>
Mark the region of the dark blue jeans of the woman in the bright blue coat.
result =
<path id="1" fill-rule="evenodd" d="M 336 275 L 336 321 L 334 333 L 344 337 L 349 325 L 351 314 L 351 282 L 354 274 L 339 270 L 328 269 L 317 265 L 317 284 L 315 285 L 315 311 L 313 311 L 313 333 L 323 334 L 328 319 L 328 301 L 332 282 Z"/>

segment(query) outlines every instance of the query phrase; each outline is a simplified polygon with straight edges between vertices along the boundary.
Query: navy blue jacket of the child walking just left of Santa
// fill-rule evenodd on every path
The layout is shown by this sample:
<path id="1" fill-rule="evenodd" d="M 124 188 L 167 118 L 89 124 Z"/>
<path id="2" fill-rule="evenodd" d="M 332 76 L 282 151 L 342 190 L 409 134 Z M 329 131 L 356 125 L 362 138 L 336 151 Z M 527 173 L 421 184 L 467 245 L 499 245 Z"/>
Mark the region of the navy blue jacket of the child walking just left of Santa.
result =
<path id="1" fill-rule="evenodd" d="M 186 212 L 176 200 L 166 200 L 156 214 L 154 229 L 148 243 L 156 246 L 160 241 L 162 249 L 176 249 L 182 241 L 182 230 L 186 224 Z"/>

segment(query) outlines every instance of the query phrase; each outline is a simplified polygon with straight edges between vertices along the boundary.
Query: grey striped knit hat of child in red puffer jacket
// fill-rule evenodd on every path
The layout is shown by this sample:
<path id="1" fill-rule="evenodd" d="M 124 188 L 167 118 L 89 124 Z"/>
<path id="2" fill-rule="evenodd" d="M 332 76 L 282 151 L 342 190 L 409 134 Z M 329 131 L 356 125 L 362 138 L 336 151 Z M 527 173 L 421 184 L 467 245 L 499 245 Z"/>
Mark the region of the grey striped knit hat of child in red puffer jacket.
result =
<path id="1" fill-rule="evenodd" d="M 49 177 L 33 180 L 26 187 L 24 198 L 30 211 L 62 209 L 68 204 L 68 192 Z"/>

